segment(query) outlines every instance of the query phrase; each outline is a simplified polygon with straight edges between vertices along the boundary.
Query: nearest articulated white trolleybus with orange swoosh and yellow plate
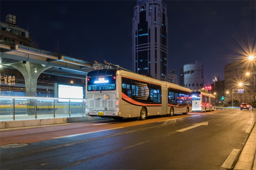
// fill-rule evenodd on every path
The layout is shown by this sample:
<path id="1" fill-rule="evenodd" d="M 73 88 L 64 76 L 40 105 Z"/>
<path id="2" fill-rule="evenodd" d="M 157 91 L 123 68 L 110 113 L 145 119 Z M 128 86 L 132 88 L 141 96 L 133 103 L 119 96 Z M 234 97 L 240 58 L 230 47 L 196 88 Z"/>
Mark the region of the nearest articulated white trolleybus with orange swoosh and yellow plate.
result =
<path id="1" fill-rule="evenodd" d="M 192 112 L 191 90 L 120 69 L 94 70 L 86 78 L 89 116 L 113 119 Z"/>

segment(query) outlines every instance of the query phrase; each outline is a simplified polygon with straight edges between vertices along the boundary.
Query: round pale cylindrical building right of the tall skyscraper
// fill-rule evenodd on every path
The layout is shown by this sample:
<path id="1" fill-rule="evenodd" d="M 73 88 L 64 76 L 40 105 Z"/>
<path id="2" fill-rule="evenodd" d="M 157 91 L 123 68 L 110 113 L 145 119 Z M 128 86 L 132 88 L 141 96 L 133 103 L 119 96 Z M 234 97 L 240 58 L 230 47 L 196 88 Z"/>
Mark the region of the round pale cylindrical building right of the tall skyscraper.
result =
<path id="1" fill-rule="evenodd" d="M 185 87 L 200 90 L 203 88 L 203 65 L 202 61 L 195 61 L 184 65 L 184 85 Z"/>

